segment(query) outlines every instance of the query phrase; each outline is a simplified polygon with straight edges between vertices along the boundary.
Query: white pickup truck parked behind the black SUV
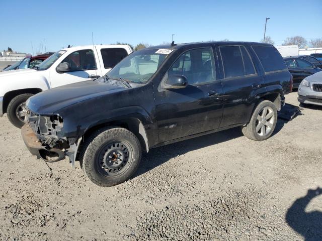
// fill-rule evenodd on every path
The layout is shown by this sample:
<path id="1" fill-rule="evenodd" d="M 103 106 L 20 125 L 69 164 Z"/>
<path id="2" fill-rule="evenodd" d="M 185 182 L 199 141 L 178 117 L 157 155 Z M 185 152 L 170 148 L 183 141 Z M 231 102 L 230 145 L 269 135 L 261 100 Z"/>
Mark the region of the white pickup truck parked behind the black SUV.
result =
<path id="1" fill-rule="evenodd" d="M 130 54 L 128 45 L 89 45 L 62 49 L 34 69 L 0 73 L 0 116 L 21 128 L 26 100 L 41 91 L 105 75 Z"/>

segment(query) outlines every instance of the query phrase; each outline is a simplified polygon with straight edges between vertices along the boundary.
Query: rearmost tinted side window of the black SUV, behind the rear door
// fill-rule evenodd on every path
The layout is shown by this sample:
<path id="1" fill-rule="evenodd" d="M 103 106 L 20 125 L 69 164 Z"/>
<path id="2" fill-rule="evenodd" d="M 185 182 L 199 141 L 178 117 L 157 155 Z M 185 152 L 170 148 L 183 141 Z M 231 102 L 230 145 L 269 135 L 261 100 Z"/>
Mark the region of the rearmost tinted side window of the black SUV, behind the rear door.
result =
<path id="1" fill-rule="evenodd" d="M 281 54 L 273 46 L 252 46 L 260 59 L 265 72 L 277 71 L 286 68 Z"/>

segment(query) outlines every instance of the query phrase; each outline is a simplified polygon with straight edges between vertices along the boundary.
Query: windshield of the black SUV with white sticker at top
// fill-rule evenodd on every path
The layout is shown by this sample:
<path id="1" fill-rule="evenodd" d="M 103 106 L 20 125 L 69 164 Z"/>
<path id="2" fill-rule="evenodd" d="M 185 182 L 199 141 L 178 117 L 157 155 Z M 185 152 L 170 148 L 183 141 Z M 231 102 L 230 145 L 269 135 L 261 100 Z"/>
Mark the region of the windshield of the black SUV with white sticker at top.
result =
<path id="1" fill-rule="evenodd" d="M 138 50 L 107 73 L 110 79 L 122 78 L 132 83 L 146 83 L 172 52 L 171 49 Z"/>

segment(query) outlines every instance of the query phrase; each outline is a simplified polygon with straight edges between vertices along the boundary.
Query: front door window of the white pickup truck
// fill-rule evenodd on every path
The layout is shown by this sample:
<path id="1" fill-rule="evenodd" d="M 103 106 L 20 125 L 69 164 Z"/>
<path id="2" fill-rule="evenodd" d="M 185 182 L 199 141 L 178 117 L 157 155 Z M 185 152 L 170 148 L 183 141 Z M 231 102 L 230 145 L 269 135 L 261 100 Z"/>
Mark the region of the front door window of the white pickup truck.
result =
<path id="1" fill-rule="evenodd" d="M 70 64 L 70 71 L 96 69 L 94 52 L 91 49 L 79 50 L 68 55 L 62 63 Z"/>

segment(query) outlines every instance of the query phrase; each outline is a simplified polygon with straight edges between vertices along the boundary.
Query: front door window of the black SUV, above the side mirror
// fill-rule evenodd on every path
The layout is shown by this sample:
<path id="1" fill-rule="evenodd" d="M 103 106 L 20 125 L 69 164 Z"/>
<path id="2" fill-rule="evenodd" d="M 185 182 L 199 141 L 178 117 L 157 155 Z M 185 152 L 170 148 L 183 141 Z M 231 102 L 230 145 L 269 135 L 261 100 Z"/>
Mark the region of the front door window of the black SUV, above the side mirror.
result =
<path id="1" fill-rule="evenodd" d="M 174 74 L 184 75 L 190 85 L 213 81 L 215 70 L 212 48 L 193 49 L 183 53 L 168 71 L 169 76 Z"/>

